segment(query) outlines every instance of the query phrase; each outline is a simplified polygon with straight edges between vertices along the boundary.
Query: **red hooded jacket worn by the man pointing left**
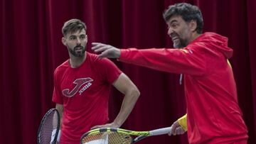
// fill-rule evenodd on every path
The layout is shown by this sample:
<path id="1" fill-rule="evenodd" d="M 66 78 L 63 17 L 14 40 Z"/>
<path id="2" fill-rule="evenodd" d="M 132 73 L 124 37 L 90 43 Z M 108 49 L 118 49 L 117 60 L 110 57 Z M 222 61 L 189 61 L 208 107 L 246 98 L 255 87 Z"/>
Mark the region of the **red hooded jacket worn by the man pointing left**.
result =
<path id="1" fill-rule="evenodd" d="M 184 74 L 189 143 L 246 140 L 228 38 L 203 33 L 183 49 L 122 49 L 119 60 L 164 72 Z"/>

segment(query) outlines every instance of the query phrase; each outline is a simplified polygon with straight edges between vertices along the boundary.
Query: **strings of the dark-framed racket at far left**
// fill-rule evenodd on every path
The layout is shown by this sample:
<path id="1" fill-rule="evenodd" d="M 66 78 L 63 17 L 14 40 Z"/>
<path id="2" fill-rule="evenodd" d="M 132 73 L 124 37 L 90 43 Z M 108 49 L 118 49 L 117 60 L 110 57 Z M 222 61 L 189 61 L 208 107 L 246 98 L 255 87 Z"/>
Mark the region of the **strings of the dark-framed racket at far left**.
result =
<path id="1" fill-rule="evenodd" d="M 55 136 L 58 133 L 55 129 L 58 127 L 58 115 L 56 111 L 51 111 L 48 115 L 43 119 L 43 123 L 41 123 L 41 131 L 39 133 L 40 142 L 50 143 L 52 136 Z M 55 130 L 55 131 L 54 131 Z M 53 134 L 53 135 L 52 135 Z"/>

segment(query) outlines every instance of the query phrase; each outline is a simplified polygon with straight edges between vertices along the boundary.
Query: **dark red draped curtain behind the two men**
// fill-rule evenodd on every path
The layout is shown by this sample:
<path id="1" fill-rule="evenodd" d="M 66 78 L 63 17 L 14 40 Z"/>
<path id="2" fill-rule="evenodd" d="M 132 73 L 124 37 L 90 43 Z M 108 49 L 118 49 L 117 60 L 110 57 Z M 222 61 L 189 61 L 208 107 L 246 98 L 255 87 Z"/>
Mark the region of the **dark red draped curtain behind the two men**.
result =
<path id="1" fill-rule="evenodd" d="M 1 0 L 0 2 L 0 143 L 36 143 L 44 113 L 53 108 L 53 70 L 68 59 L 61 43 L 64 21 L 80 18 L 91 42 L 119 48 L 171 48 L 162 13 L 181 0 Z M 256 143 L 256 1 L 190 0 L 199 6 L 204 31 L 229 38 L 238 99 Z M 186 113 L 178 74 L 157 72 L 113 60 L 141 91 L 122 128 L 136 131 L 170 126 Z M 119 111 L 122 94 L 113 89 L 110 118 Z M 188 143 L 185 135 L 161 135 L 141 143 Z"/>

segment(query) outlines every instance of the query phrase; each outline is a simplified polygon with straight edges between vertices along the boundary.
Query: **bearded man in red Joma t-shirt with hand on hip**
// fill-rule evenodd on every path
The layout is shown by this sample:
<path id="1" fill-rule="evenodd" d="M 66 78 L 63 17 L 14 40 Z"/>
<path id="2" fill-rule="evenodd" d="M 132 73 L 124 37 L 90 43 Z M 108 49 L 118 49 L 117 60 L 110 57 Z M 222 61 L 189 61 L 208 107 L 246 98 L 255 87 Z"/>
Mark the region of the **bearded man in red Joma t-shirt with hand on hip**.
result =
<path id="1" fill-rule="evenodd" d="M 86 52 L 85 23 L 71 19 L 64 23 L 62 42 L 70 58 L 54 72 L 53 101 L 61 116 L 61 144 L 79 144 L 91 128 L 119 128 L 132 111 L 139 90 L 107 58 Z M 108 99 L 112 85 L 124 94 L 121 109 L 112 123 Z"/>

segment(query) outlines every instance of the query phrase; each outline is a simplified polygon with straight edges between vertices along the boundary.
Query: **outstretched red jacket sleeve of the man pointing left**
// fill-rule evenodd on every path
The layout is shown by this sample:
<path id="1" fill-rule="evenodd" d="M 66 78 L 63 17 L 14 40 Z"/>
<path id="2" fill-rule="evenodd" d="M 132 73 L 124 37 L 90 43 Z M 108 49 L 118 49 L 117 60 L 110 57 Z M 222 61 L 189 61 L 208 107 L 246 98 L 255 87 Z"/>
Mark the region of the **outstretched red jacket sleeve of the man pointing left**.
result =
<path id="1" fill-rule="evenodd" d="M 138 50 L 128 48 L 121 50 L 119 60 L 154 70 L 177 74 L 202 75 L 206 62 L 200 50 L 150 48 Z"/>

